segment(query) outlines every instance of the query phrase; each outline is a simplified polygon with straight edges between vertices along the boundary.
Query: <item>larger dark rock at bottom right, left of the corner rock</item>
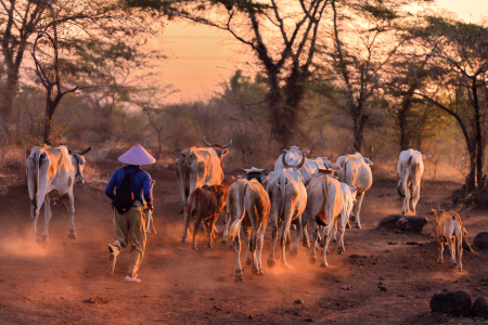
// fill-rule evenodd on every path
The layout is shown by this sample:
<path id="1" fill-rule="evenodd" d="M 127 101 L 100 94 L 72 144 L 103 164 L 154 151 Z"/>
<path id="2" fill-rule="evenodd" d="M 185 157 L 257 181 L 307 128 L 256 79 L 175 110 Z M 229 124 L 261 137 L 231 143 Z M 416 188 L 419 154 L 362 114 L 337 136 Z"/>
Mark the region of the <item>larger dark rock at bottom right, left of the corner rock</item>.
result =
<path id="1" fill-rule="evenodd" d="M 434 294 L 431 299 L 431 310 L 457 316 L 468 316 L 471 313 L 471 295 L 464 291 L 444 290 Z"/>

